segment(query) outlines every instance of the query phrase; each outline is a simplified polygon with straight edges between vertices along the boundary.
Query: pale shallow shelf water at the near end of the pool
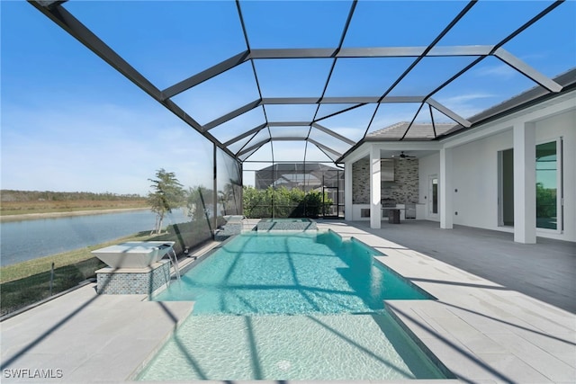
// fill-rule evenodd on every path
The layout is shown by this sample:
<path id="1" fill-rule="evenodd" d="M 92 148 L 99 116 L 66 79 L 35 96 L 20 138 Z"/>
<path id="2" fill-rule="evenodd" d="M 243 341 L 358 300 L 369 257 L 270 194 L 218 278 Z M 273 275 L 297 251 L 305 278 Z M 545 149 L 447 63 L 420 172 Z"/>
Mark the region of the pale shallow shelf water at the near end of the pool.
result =
<path id="1" fill-rule="evenodd" d="M 191 316 L 139 380 L 442 379 L 392 318 Z"/>

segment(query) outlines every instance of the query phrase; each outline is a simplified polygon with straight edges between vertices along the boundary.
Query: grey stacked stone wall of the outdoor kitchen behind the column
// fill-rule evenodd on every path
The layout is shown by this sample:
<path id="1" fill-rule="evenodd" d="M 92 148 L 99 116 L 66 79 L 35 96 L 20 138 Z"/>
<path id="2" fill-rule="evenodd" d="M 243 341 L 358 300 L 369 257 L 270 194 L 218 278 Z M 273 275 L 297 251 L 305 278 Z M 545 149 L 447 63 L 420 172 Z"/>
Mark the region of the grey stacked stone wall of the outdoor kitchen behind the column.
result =
<path id="1" fill-rule="evenodd" d="M 382 198 L 401 204 L 419 202 L 417 158 L 394 159 L 394 183 L 382 182 Z M 362 158 L 352 165 L 352 203 L 370 204 L 370 161 Z"/>

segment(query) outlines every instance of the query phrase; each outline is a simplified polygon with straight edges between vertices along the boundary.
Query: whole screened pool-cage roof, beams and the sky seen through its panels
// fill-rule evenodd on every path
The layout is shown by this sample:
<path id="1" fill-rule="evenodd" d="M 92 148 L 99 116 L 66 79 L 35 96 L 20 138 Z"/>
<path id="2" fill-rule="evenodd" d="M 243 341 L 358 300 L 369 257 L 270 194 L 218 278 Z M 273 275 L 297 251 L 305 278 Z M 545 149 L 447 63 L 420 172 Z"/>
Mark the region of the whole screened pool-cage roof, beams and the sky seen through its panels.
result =
<path id="1" fill-rule="evenodd" d="M 576 77 L 574 2 L 30 3 L 242 162 L 441 139 Z"/>

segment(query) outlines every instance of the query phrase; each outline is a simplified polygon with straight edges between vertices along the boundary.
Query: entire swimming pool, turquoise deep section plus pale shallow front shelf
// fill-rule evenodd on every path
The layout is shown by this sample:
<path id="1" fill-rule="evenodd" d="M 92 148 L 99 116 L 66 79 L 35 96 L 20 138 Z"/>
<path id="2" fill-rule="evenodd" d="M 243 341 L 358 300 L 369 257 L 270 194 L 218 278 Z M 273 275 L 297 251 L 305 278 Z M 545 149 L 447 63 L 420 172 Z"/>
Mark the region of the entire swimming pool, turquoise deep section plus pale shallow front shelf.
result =
<path id="1" fill-rule="evenodd" d="M 446 378 L 383 308 L 432 298 L 374 254 L 329 232 L 231 239 L 154 298 L 194 300 L 193 314 L 138 379 Z"/>

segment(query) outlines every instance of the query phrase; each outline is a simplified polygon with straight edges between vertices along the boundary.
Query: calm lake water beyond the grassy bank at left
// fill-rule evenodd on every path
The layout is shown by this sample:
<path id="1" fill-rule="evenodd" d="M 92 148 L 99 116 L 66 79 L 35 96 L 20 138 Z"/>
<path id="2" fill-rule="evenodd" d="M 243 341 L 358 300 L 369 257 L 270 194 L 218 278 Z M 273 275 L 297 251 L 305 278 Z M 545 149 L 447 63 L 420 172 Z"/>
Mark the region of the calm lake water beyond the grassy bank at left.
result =
<path id="1" fill-rule="evenodd" d="M 0 223 L 0 265 L 21 263 L 42 256 L 94 246 L 154 228 L 150 210 L 34 219 Z M 184 210 L 175 210 L 163 226 L 187 221 Z"/>

